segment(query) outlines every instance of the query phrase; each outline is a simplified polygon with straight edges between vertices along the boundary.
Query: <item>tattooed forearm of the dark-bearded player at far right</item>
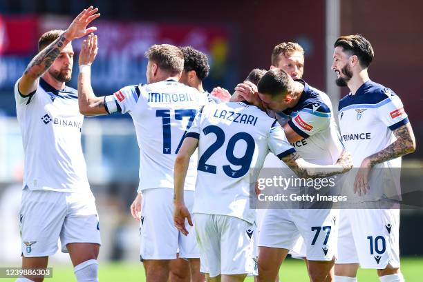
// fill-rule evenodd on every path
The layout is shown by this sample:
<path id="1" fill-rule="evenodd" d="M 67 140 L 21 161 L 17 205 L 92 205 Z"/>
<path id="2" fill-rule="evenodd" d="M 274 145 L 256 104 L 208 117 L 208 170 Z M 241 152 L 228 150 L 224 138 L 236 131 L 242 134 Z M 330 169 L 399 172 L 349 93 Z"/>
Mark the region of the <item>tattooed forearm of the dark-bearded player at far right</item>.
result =
<path id="1" fill-rule="evenodd" d="M 388 145 L 384 150 L 367 157 L 370 161 L 370 166 L 396 159 L 415 151 L 415 137 L 410 123 L 397 128 L 393 131 L 393 134 L 397 137 L 397 141 Z"/>

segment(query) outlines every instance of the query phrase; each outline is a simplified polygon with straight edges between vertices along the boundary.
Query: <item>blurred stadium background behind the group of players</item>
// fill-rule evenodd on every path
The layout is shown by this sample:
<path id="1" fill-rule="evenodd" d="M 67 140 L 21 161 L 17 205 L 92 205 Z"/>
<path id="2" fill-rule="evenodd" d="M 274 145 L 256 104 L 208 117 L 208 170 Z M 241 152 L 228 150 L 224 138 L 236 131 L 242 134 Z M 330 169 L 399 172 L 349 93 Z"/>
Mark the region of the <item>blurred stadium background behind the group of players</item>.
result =
<path id="1" fill-rule="evenodd" d="M 94 23 L 100 50 L 92 72 L 93 88 L 100 95 L 145 83 L 144 52 L 153 43 L 189 45 L 205 52 L 212 66 L 205 88 L 220 85 L 232 92 L 252 68 L 269 68 L 276 44 L 297 41 L 306 50 L 303 78 L 326 90 L 337 105 L 348 90 L 337 88 L 330 70 L 333 43 L 339 34 L 361 33 L 375 49 L 371 79 L 400 94 L 415 130 L 417 151 L 404 158 L 404 166 L 422 167 L 423 1 L 0 0 L 0 266 L 19 265 L 20 261 L 17 223 L 23 150 L 13 86 L 36 54 L 39 36 L 46 30 L 65 29 L 90 5 L 102 14 Z M 80 43 L 73 42 L 73 87 Z M 100 268 L 100 279 L 140 281 L 138 223 L 129 213 L 139 165 L 132 121 L 129 115 L 87 118 L 82 132 L 88 178 L 100 213 L 100 261 L 109 265 Z M 407 281 L 421 281 L 419 272 L 423 273 L 422 211 L 402 212 L 400 250 Z M 65 254 L 56 254 L 52 261 L 53 265 L 70 265 Z M 281 272 L 288 280 L 283 281 L 308 281 L 301 263 L 288 262 Z M 51 281 L 74 281 L 70 266 L 58 266 L 56 274 Z M 122 278 L 123 274 L 131 275 Z M 375 272 L 360 270 L 360 277 L 361 281 L 377 281 Z"/>

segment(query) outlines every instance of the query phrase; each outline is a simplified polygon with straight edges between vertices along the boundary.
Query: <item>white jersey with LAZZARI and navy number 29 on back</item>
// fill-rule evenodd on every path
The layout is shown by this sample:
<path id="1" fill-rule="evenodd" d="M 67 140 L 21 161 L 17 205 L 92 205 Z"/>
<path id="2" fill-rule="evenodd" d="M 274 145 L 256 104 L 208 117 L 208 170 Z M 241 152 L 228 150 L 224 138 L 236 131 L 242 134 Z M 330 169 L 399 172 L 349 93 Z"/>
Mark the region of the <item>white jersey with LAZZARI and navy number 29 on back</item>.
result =
<path id="1" fill-rule="evenodd" d="M 295 152 L 281 125 L 254 105 L 206 105 L 187 137 L 199 139 L 194 213 L 235 216 L 254 222 L 250 168 L 262 168 L 268 152 L 281 159 Z M 254 171 L 254 172 L 253 172 Z"/>

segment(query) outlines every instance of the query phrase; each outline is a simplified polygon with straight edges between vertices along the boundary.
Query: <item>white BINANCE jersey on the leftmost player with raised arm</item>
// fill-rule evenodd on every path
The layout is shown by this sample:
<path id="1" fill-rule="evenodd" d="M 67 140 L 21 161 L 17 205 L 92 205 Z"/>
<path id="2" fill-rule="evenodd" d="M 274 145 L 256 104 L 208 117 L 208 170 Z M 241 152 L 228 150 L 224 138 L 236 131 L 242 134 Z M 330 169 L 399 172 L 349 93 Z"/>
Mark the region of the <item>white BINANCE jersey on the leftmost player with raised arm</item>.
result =
<path id="1" fill-rule="evenodd" d="M 84 116 L 79 113 L 77 90 L 68 86 L 56 90 L 39 79 L 37 90 L 22 96 L 19 81 L 15 84 L 15 99 L 25 153 L 23 187 L 88 191 L 81 146 Z"/>

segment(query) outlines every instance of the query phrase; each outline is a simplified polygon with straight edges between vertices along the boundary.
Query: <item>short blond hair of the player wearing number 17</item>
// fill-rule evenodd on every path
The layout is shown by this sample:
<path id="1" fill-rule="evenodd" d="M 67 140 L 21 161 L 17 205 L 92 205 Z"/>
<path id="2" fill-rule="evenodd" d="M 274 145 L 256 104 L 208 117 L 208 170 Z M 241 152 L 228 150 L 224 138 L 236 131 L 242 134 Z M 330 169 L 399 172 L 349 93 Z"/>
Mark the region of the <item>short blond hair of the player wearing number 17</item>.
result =
<path id="1" fill-rule="evenodd" d="M 184 70 L 184 54 L 182 51 L 170 44 L 153 45 L 145 52 L 145 57 L 158 67 L 171 74 L 179 74 Z"/>

